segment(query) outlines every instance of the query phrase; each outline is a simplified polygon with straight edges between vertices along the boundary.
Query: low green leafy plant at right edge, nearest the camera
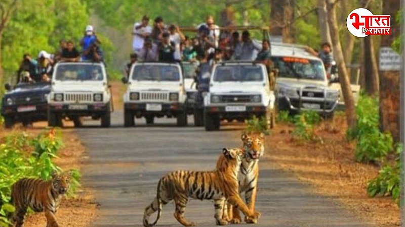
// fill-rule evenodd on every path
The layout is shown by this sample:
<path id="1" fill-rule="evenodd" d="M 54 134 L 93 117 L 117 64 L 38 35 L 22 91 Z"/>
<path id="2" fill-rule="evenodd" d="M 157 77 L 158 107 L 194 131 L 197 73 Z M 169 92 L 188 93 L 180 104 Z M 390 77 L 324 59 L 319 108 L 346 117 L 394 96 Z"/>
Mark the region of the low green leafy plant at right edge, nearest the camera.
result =
<path id="1" fill-rule="evenodd" d="M 369 181 L 367 185 L 367 193 L 369 196 L 374 197 L 377 195 L 381 196 L 391 196 L 393 200 L 398 202 L 399 206 L 399 195 L 400 195 L 400 174 L 401 172 L 401 161 L 400 153 L 402 152 L 402 146 L 397 146 L 395 164 L 386 164 L 379 171 L 376 178 Z"/>

